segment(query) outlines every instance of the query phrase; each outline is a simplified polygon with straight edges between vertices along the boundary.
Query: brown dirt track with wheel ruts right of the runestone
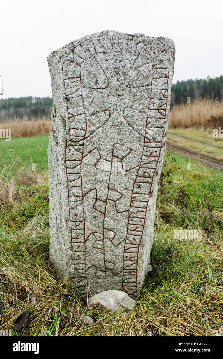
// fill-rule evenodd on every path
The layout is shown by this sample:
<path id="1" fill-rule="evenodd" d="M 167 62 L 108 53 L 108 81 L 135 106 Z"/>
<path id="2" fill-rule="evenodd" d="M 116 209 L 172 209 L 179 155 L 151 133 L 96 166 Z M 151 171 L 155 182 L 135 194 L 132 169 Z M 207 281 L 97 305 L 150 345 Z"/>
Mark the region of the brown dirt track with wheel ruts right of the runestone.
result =
<path id="1" fill-rule="evenodd" d="M 169 133 L 171 134 L 171 132 L 169 132 Z M 179 137 L 184 137 L 184 136 L 179 136 Z M 188 137 L 184 137 L 184 138 L 188 139 Z M 197 142 L 201 142 L 201 141 L 197 141 Z M 206 143 L 206 144 L 209 145 L 209 143 Z M 219 160 L 219 159 L 216 159 L 213 157 L 209 157 L 208 155 L 200 154 L 196 151 L 191 151 L 189 148 L 179 147 L 179 145 L 175 145 L 173 142 L 171 142 L 169 140 L 167 140 L 167 142 L 166 142 L 166 147 L 169 150 L 174 151 L 175 153 L 177 153 L 181 156 L 188 157 L 195 161 L 204 163 L 209 167 L 216 168 L 216 169 L 219 169 L 220 171 L 223 171 L 223 159 Z M 215 147 L 222 148 L 222 146 L 217 146 L 217 145 Z"/>

